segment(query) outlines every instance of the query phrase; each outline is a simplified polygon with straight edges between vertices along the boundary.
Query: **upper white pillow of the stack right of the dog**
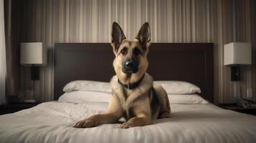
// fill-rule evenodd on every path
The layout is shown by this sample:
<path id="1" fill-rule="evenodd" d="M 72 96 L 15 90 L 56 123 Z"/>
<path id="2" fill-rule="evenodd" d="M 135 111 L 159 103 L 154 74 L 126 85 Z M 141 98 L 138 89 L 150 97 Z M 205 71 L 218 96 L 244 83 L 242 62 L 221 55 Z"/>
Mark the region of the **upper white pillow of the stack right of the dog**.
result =
<path id="1" fill-rule="evenodd" d="M 167 94 L 194 94 L 201 93 L 199 87 L 189 82 L 182 81 L 156 81 L 154 84 L 160 84 Z"/>

